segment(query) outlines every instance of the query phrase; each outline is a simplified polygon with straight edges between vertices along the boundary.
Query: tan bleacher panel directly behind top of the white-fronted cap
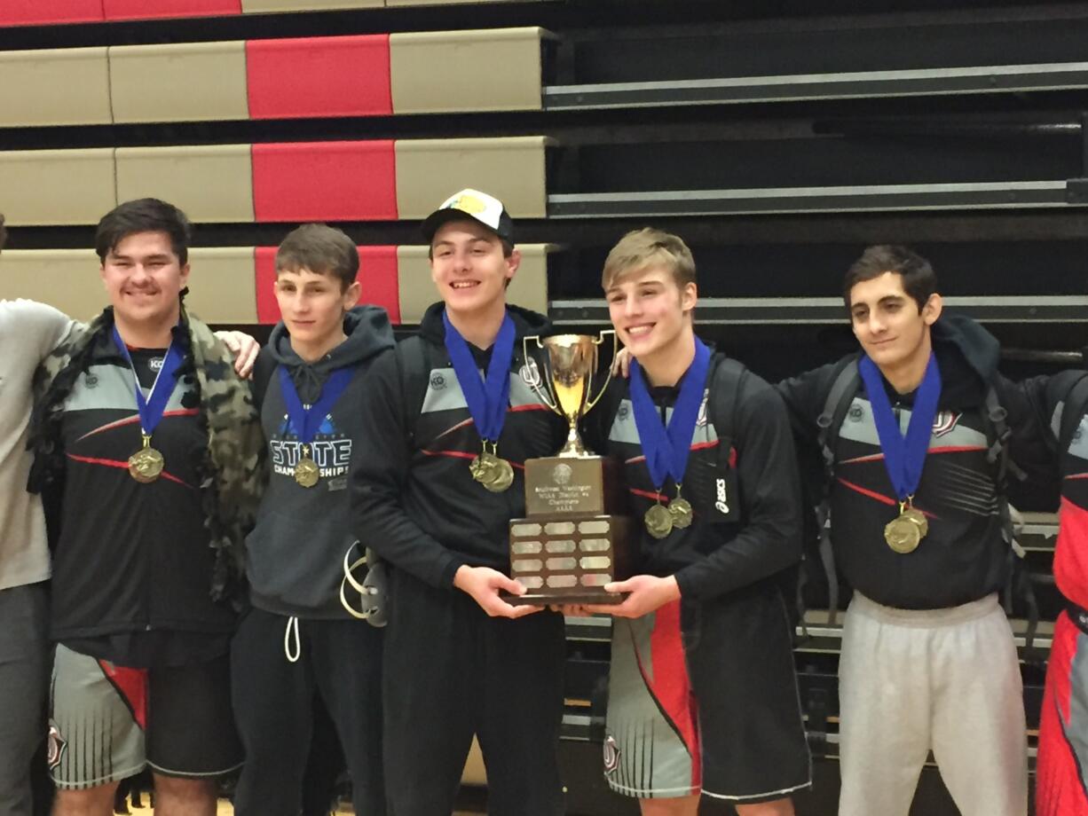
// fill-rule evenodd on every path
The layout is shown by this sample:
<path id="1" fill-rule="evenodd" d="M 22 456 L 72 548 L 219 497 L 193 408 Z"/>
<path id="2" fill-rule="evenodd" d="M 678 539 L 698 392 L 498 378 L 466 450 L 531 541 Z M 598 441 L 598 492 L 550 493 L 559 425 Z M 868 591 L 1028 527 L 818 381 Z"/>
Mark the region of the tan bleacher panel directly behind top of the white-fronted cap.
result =
<path id="1" fill-rule="evenodd" d="M 396 143 L 397 211 L 423 219 L 465 187 L 502 199 L 515 219 L 547 215 L 546 136 Z"/>

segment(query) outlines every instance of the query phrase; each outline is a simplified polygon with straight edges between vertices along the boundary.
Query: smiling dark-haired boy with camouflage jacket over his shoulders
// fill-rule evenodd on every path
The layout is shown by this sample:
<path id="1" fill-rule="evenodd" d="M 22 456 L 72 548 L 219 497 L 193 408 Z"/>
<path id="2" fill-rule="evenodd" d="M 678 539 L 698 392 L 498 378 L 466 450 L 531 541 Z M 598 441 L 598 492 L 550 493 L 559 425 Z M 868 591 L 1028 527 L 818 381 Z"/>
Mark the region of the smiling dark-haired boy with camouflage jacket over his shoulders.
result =
<path id="1" fill-rule="evenodd" d="M 61 493 L 53 559 L 54 813 L 112 813 L 146 766 L 164 813 L 215 813 L 240 764 L 227 651 L 263 444 L 231 356 L 182 304 L 188 221 L 99 222 L 111 306 L 44 362 L 32 482 Z"/>

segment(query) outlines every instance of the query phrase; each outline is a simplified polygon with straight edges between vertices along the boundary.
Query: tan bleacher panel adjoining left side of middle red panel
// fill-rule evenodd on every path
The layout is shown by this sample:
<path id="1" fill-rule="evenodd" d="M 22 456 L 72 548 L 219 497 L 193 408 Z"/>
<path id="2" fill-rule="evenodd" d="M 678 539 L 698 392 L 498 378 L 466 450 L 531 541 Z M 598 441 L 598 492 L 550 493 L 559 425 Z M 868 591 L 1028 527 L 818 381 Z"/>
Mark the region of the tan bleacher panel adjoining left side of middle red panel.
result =
<path id="1" fill-rule="evenodd" d="M 249 145 L 118 148 L 118 198 L 161 198 L 194 222 L 251 222 L 249 153 Z"/>

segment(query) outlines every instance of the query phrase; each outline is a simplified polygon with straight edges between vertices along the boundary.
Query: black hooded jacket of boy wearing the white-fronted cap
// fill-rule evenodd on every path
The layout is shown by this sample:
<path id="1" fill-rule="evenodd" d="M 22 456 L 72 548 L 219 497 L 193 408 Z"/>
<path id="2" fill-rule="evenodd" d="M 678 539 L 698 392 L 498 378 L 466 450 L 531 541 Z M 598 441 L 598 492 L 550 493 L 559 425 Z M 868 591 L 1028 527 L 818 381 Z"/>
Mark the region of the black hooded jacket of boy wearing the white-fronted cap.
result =
<path id="1" fill-rule="evenodd" d="M 490 493 L 469 462 L 481 441 L 446 351 L 443 304 L 426 310 L 418 337 L 379 360 L 368 375 L 361 440 L 351 471 L 356 536 L 383 558 L 434 586 L 453 586 L 461 565 L 509 571 L 511 518 L 526 514 L 524 460 L 552 456 L 566 422 L 530 387 L 522 338 L 547 334 L 542 314 L 507 307 L 517 329 L 510 363 L 510 404 L 498 455 L 514 465 L 514 484 Z M 480 369 L 490 350 L 472 346 Z"/>

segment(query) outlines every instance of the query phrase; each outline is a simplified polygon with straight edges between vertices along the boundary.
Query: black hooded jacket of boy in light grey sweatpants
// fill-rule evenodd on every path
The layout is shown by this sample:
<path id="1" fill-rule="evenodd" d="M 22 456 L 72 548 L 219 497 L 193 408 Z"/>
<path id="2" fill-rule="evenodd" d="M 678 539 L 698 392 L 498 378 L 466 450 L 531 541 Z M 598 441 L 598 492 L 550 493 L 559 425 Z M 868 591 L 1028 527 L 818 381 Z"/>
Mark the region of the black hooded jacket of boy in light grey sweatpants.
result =
<path id="1" fill-rule="evenodd" d="M 944 314 L 934 324 L 934 353 L 941 397 L 914 504 L 929 516 L 929 532 L 913 553 L 900 555 L 883 539 L 899 515 L 864 383 L 840 426 L 831 485 L 831 541 L 849 583 L 869 598 L 902 609 L 957 606 L 1000 591 L 1010 545 L 999 514 L 994 468 L 987 460 L 989 423 L 984 420 L 987 383 L 1007 411 L 1010 455 L 1029 471 L 1049 456 L 1037 415 L 1024 392 L 998 373 L 998 342 L 978 323 Z M 848 360 L 779 383 L 802 444 L 815 447 L 816 418 Z M 914 393 L 898 394 L 885 381 L 905 432 Z M 1046 465 L 1041 466 L 1042 468 Z"/>

